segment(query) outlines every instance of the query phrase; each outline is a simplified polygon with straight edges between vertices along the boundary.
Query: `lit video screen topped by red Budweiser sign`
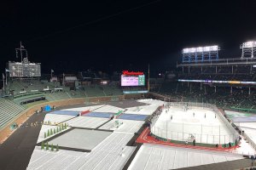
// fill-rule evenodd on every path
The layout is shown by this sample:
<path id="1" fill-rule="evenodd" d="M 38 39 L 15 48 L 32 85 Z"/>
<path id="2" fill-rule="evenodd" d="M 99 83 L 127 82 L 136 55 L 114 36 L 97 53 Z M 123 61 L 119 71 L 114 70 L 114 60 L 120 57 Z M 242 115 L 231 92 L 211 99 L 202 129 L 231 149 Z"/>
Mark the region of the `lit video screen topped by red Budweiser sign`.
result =
<path id="1" fill-rule="evenodd" d="M 121 86 L 145 86 L 145 75 L 143 72 L 123 71 L 121 76 Z"/>

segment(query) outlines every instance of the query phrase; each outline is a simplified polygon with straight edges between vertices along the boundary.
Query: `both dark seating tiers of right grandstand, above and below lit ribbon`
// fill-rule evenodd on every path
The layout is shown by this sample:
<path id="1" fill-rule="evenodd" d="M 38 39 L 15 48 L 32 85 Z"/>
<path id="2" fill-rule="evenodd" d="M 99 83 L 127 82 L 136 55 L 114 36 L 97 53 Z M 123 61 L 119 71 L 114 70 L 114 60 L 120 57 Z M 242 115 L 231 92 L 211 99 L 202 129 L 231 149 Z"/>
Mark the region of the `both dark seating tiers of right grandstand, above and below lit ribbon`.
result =
<path id="1" fill-rule="evenodd" d="M 255 72 L 255 67 L 251 65 L 233 65 L 233 69 L 232 65 L 189 65 L 178 72 L 177 79 L 256 82 Z M 167 94 L 173 99 L 212 103 L 224 109 L 250 111 L 256 108 L 255 87 L 253 86 L 166 80 L 158 88 L 152 90 L 156 93 Z"/>

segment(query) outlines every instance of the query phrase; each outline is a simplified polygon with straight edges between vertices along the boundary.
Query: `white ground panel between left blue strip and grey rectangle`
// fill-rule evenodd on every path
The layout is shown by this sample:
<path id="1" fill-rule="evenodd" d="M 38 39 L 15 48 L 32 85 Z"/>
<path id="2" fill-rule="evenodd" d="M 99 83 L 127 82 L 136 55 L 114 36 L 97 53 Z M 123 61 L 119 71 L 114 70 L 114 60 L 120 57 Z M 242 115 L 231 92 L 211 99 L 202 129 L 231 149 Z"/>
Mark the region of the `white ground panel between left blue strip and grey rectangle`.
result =
<path id="1" fill-rule="evenodd" d="M 90 117 L 90 116 L 78 116 L 72 120 L 67 121 L 68 125 L 72 127 L 89 127 L 96 128 L 107 122 L 108 118 Z"/>

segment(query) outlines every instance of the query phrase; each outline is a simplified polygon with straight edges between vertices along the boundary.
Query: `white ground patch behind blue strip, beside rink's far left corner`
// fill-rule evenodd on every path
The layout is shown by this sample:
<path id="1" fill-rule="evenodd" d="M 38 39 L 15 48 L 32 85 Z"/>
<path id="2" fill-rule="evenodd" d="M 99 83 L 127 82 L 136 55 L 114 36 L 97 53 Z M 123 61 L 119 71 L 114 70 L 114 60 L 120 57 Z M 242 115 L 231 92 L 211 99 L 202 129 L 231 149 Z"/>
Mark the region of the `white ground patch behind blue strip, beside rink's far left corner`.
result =
<path id="1" fill-rule="evenodd" d="M 143 105 L 139 107 L 126 108 L 125 114 L 152 115 L 160 105 Z"/>

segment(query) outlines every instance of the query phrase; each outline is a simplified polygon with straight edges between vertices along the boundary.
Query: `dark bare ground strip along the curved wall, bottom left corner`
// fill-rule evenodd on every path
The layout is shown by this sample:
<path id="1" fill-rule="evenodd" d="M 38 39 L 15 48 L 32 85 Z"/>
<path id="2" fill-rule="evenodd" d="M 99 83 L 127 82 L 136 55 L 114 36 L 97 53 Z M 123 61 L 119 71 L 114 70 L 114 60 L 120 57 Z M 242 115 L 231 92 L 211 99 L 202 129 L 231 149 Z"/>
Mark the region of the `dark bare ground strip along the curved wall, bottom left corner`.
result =
<path id="1" fill-rule="evenodd" d="M 44 122 L 45 113 L 34 114 L 26 122 L 28 127 L 20 127 L 9 139 L 0 145 L 0 169 L 26 169 L 35 145 L 41 125 L 30 127 L 32 122 Z M 24 125 L 26 124 L 24 123 Z"/>

